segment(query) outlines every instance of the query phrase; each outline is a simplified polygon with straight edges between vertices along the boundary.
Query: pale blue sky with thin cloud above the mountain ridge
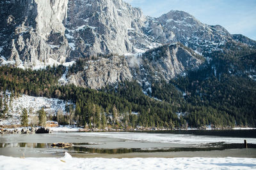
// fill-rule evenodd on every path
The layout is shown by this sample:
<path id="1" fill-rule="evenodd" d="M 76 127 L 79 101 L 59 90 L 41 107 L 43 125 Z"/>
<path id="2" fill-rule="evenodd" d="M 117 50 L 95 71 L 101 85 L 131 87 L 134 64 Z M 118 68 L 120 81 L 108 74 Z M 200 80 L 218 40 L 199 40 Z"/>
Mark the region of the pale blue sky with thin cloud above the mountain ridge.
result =
<path id="1" fill-rule="evenodd" d="M 256 0 L 124 0 L 144 15 L 160 17 L 170 10 L 186 11 L 208 25 L 256 40 Z"/>

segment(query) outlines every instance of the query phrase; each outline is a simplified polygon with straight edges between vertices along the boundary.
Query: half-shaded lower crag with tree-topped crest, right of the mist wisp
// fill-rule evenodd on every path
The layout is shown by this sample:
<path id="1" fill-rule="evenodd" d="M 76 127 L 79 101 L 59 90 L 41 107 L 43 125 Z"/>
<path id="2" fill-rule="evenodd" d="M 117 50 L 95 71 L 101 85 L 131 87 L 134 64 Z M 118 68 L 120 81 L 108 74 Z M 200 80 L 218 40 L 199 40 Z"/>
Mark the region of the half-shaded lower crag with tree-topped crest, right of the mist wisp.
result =
<path id="1" fill-rule="evenodd" d="M 186 75 L 189 70 L 199 69 L 204 57 L 180 43 L 159 46 L 143 53 L 140 62 L 130 67 L 134 80 L 150 94 L 152 81 L 169 81 L 177 75 Z"/>

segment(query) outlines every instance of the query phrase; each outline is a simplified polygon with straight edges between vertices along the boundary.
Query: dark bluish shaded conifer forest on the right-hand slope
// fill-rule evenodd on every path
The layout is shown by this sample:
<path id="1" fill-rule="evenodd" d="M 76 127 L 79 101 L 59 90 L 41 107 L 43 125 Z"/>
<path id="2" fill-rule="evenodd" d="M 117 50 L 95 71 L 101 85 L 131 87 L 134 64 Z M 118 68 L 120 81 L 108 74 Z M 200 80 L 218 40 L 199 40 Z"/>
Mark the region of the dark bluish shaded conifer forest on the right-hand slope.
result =
<path id="1" fill-rule="evenodd" d="M 170 81 L 186 93 L 182 111 L 190 113 L 184 117 L 190 125 L 256 126 L 256 82 L 244 72 L 255 60 L 244 64 L 244 57 L 231 59 L 232 62 L 227 59 L 230 60 L 227 55 L 215 57 L 204 69 Z M 242 66 L 246 67 L 238 69 Z"/>

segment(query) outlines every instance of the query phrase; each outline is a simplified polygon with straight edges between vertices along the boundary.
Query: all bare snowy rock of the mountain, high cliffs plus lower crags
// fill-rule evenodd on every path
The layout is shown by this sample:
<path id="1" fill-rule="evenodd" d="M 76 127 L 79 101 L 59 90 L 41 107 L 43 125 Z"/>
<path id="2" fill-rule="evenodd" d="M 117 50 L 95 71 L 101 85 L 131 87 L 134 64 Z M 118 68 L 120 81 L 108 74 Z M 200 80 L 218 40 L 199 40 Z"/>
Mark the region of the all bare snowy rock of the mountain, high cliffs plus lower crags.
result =
<path id="1" fill-rule="evenodd" d="M 131 73 L 132 61 L 143 60 L 139 66 L 148 66 L 144 61 L 154 58 L 156 51 L 147 50 L 156 50 L 165 44 L 180 42 L 195 50 L 189 52 L 192 57 L 184 57 L 176 55 L 169 47 L 160 47 L 161 51 L 166 50 L 163 52 L 166 58 L 151 60 L 149 65 L 152 72 L 166 71 L 161 74 L 166 80 L 197 69 L 202 64 L 202 60 L 196 59 L 197 54 L 220 51 L 227 44 L 250 48 L 256 45 L 255 41 L 245 36 L 231 35 L 220 25 L 202 24 L 184 11 L 170 11 L 159 18 L 145 17 L 140 9 L 132 8 L 122 0 L 4 0 L 0 10 L 2 64 L 36 67 L 97 57 L 99 54 L 127 56 L 129 53 L 131 56 L 131 53 L 137 53 L 124 59 L 111 57 L 88 62 L 83 75 L 73 74 L 69 78 L 75 84 L 96 89 L 108 83 L 138 77 Z M 188 53 L 184 47 L 179 49 L 178 53 Z M 144 52 L 144 57 L 138 55 Z M 114 67 L 115 64 L 118 67 Z"/>

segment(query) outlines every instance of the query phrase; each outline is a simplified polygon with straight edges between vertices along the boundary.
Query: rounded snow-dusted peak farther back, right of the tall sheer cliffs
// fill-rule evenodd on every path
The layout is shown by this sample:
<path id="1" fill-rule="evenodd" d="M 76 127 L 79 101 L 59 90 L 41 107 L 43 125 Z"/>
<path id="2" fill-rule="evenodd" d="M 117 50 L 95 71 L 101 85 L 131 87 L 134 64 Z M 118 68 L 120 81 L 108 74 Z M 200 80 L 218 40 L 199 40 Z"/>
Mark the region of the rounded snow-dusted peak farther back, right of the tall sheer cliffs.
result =
<path id="1" fill-rule="evenodd" d="M 180 42 L 197 52 L 218 50 L 227 41 L 230 33 L 220 25 L 202 24 L 184 11 L 170 11 L 159 18 L 148 18 L 147 34 L 161 43 Z"/>

